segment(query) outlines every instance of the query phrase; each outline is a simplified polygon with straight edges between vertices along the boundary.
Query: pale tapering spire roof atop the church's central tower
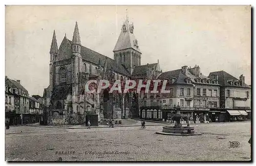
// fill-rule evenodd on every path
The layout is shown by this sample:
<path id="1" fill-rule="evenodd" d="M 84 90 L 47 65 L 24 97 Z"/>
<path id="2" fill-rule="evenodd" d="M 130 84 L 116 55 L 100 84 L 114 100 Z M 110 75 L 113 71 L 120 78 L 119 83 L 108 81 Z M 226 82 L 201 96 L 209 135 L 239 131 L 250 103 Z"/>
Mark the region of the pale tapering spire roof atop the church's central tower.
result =
<path id="1" fill-rule="evenodd" d="M 130 48 L 140 52 L 138 40 L 135 38 L 133 30 L 133 24 L 130 25 L 129 20 L 126 19 L 113 52 Z"/>

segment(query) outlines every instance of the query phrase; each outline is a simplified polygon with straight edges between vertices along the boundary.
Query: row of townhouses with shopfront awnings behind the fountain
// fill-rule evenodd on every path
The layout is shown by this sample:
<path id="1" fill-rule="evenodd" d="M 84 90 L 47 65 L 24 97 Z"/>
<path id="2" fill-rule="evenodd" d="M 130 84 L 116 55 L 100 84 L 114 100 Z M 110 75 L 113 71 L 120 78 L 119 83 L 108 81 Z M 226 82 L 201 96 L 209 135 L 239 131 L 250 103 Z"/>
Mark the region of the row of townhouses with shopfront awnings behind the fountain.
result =
<path id="1" fill-rule="evenodd" d="M 243 75 L 237 79 L 220 71 L 208 77 L 200 67 L 183 66 L 161 73 L 156 79 L 167 80 L 169 93 L 143 93 L 140 102 L 141 118 L 171 118 L 177 106 L 189 120 L 211 122 L 235 121 L 250 118 L 250 86 Z"/>

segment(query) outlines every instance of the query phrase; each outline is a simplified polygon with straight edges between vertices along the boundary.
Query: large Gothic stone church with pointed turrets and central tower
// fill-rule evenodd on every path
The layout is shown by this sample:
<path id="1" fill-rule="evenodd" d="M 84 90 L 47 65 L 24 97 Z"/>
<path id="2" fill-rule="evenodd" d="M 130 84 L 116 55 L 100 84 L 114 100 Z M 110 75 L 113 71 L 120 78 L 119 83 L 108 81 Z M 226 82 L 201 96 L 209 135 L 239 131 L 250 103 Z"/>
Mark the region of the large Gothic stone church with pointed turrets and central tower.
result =
<path id="1" fill-rule="evenodd" d="M 134 25 L 128 17 L 123 22 L 113 54 L 114 59 L 111 59 L 83 46 L 77 22 L 73 39 L 69 40 L 65 35 L 59 48 L 53 32 L 50 85 L 44 90 L 44 104 L 52 121 L 59 115 L 74 115 L 75 122 L 79 123 L 84 122 L 87 114 L 97 114 L 99 121 L 138 118 L 140 97 L 136 92 L 109 93 L 110 88 L 100 93 L 86 93 L 84 90 L 89 80 L 104 79 L 110 83 L 120 80 L 125 83 L 129 79 L 155 79 L 162 73 L 159 62 L 141 65 L 142 52 L 134 35 Z"/>

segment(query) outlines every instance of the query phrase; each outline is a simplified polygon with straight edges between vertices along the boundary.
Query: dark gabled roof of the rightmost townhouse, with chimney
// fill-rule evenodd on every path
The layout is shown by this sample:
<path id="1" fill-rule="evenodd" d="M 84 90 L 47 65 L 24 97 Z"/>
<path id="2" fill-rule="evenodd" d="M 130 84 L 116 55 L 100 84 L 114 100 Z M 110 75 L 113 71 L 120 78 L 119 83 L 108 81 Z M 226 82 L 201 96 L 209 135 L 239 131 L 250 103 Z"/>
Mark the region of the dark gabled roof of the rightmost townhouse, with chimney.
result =
<path id="1" fill-rule="evenodd" d="M 214 77 L 215 75 L 218 76 L 218 83 L 222 86 L 251 88 L 247 84 L 244 84 L 243 86 L 242 86 L 242 84 L 240 84 L 240 86 L 231 85 L 230 83 L 228 83 L 228 80 L 233 80 L 233 81 L 240 81 L 240 80 L 237 79 L 236 77 L 233 77 L 232 75 L 228 74 L 227 72 L 224 72 L 223 70 L 219 71 L 219 72 L 211 72 L 209 74 L 209 77 Z"/>

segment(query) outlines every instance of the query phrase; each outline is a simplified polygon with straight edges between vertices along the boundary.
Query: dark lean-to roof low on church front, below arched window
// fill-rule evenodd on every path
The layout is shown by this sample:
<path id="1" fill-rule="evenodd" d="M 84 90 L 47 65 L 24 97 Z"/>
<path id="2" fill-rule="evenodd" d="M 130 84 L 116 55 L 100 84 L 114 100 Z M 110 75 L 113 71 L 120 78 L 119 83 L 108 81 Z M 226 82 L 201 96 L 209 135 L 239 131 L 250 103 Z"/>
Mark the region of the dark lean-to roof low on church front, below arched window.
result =
<path id="1" fill-rule="evenodd" d="M 52 100 L 65 100 L 68 94 L 72 94 L 71 84 L 62 84 L 54 86 L 51 99 Z"/>

